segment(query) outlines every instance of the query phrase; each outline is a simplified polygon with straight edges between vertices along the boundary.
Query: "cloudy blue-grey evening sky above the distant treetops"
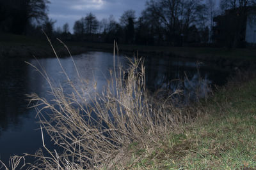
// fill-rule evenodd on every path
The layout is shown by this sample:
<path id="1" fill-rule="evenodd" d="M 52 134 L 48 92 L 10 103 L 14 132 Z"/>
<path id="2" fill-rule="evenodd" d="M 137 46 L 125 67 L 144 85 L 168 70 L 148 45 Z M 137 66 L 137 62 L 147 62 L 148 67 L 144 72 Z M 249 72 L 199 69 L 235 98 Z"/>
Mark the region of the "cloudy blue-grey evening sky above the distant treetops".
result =
<path id="1" fill-rule="evenodd" d="M 147 0 L 50 0 L 49 17 L 57 20 L 55 27 L 62 27 L 66 22 L 70 31 L 76 20 L 92 12 L 98 20 L 114 15 L 118 21 L 125 10 L 135 10 L 136 16 L 145 9 Z"/>

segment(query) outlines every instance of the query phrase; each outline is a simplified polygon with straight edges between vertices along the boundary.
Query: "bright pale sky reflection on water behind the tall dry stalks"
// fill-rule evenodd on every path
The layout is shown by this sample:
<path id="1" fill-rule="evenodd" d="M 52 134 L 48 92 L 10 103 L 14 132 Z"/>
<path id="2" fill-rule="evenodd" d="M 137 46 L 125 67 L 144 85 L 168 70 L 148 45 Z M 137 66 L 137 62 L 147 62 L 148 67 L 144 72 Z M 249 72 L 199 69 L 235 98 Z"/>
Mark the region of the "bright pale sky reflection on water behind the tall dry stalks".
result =
<path id="1" fill-rule="evenodd" d="M 120 57 L 119 62 L 125 65 L 126 59 L 124 57 Z M 116 59 L 117 62 L 117 59 Z M 70 81 L 74 82 L 74 85 L 79 89 L 80 80 L 77 80 L 79 74 L 79 78 L 83 79 L 87 83 L 86 89 L 87 92 L 90 92 L 95 82 L 97 82 L 97 90 L 98 92 L 102 91 L 102 87 L 106 85 L 106 80 L 109 78 L 109 70 L 113 69 L 113 55 L 111 53 L 103 53 L 103 52 L 90 52 L 84 53 L 82 55 L 77 55 L 74 57 L 74 62 L 70 57 L 65 59 L 60 59 L 60 63 L 57 59 L 40 59 L 38 61 L 31 60 L 30 62 L 35 67 L 40 67 L 40 71 L 44 72 L 43 74 L 47 74 L 49 79 L 55 86 L 62 86 L 65 92 L 68 92 L 69 83 L 67 81 L 67 76 Z M 63 73 L 63 69 L 65 71 Z M 38 96 L 46 97 L 49 96 L 45 93 L 50 91 L 49 82 L 42 77 L 42 75 L 38 74 L 33 67 L 29 67 L 29 87 L 31 89 L 36 89 Z M 36 83 L 35 83 L 36 82 Z M 86 94 L 84 94 L 86 97 Z"/>

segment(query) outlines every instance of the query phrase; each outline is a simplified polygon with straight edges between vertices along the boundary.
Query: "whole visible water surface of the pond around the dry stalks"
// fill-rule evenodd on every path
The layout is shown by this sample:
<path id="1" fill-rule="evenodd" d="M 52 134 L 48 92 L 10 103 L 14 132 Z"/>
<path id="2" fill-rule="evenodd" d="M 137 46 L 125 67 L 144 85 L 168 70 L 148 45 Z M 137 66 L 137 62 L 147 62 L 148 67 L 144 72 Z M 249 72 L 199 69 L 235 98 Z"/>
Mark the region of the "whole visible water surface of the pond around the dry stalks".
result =
<path id="1" fill-rule="evenodd" d="M 89 82 L 97 81 L 97 87 L 106 85 L 108 70 L 113 69 L 113 55 L 105 52 L 88 52 L 74 56 L 77 69 L 83 78 Z M 36 67 L 44 67 L 52 81 L 65 85 L 67 79 L 61 74 L 61 67 L 56 59 L 27 60 Z M 76 80 L 77 73 L 69 57 L 60 59 L 71 80 Z M 120 57 L 119 61 L 127 65 L 127 59 Z M 147 85 L 149 89 L 173 88 L 179 83 L 170 80 L 184 78 L 184 73 L 191 83 L 183 84 L 186 89 L 208 84 L 223 85 L 230 71 L 215 66 L 214 63 L 200 63 L 196 60 L 183 60 L 170 57 L 147 57 L 145 60 Z M 198 74 L 198 67 L 200 72 Z M 204 84 L 198 84 L 199 76 Z M 35 92 L 40 97 L 47 96 L 49 87 L 47 81 L 24 62 L 24 59 L 3 59 L 0 62 L 0 159 L 8 162 L 11 155 L 35 153 L 42 148 L 39 124 L 35 123 L 36 112 L 28 109 L 26 94 Z M 88 84 L 89 88 L 92 84 Z M 45 137 L 47 146 L 52 148 L 49 137 Z M 0 166 L 1 167 L 1 166 Z"/>

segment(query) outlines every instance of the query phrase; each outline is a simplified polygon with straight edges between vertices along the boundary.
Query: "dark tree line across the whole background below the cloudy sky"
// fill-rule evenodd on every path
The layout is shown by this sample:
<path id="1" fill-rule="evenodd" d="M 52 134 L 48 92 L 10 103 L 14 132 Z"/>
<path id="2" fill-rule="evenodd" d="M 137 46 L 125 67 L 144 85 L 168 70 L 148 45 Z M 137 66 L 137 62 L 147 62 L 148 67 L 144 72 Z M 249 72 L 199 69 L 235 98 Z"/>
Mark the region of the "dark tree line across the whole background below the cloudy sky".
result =
<path id="1" fill-rule="evenodd" d="M 115 20 L 113 15 L 98 20 L 93 13 L 81 17 L 72 25 L 54 29 L 56 21 L 47 17 L 47 0 L 0 0 L 0 30 L 15 34 L 40 34 L 58 36 L 74 41 L 136 43 L 143 45 L 197 45 L 212 42 L 213 18 L 228 9 L 239 9 L 247 15 L 247 7 L 256 0 L 221 0 L 220 8 L 214 0 L 148 0 L 140 16 L 134 10 L 124 11 Z M 239 32 L 239 29 L 237 29 Z M 234 36 L 238 36 L 235 32 Z"/>

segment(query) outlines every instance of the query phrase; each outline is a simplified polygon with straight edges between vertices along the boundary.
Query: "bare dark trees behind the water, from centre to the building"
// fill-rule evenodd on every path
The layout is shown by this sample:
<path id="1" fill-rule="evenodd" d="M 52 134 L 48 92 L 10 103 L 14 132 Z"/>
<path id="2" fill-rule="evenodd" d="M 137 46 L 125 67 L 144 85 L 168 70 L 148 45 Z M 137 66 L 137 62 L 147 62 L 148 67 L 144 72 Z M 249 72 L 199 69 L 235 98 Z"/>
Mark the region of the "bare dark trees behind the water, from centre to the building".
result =
<path id="1" fill-rule="evenodd" d="M 89 13 L 76 21 L 74 35 L 82 39 L 97 39 L 97 35 L 108 43 L 113 39 L 145 45 L 207 43 L 207 22 L 207 4 L 202 0 L 150 0 L 138 18 L 134 10 L 124 11 L 119 22 L 113 15 L 99 21 Z"/>

